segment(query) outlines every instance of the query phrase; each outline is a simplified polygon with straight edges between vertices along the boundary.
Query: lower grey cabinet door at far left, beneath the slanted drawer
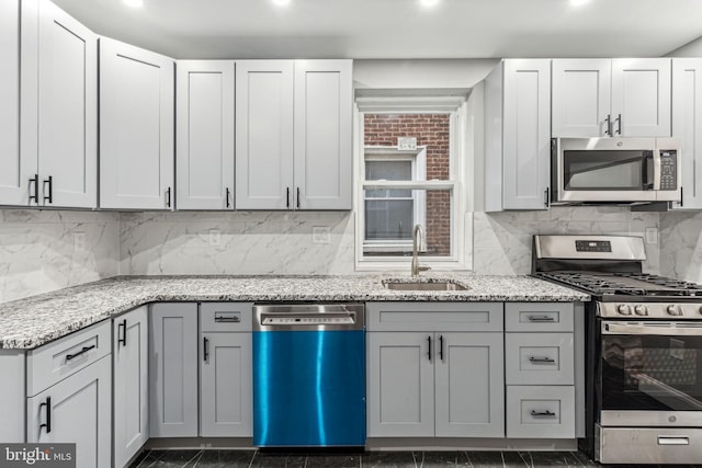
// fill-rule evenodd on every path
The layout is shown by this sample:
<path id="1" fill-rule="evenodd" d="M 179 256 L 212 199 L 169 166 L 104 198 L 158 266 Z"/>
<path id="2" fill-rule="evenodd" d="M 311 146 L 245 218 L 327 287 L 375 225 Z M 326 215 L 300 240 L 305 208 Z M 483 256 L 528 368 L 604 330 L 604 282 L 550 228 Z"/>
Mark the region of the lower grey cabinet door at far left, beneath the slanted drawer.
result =
<path id="1" fill-rule="evenodd" d="M 29 398 L 27 443 L 75 443 L 76 467 L 112 466 L 110 363 L 103 357 Z M 42 426 L 49 420 L 50 427 Z"/>

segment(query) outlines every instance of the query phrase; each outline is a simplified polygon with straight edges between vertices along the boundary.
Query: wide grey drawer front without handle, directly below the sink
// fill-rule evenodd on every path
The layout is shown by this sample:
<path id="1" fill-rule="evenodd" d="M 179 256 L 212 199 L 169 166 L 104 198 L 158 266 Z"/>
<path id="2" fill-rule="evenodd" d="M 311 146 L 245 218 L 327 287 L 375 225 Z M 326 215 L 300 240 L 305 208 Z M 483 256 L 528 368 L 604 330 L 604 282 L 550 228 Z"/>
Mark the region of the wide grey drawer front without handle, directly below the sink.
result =
<path id="1" fill-rule="evenodd" d="M 369 331 L 502 331 L 502 303 L 369 303 Z"/>

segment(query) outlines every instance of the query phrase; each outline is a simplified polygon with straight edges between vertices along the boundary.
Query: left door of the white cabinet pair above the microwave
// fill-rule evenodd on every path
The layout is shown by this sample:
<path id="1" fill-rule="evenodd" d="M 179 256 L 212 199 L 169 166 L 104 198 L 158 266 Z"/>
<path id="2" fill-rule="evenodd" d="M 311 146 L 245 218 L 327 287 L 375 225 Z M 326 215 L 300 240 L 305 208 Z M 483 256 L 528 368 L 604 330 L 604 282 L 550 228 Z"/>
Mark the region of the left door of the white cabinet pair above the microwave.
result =
<path id="1" fill-rule="evenodd" d="M 612 60 L 556 59 L 552 67 L 553 137 L 609 136 Z"/>

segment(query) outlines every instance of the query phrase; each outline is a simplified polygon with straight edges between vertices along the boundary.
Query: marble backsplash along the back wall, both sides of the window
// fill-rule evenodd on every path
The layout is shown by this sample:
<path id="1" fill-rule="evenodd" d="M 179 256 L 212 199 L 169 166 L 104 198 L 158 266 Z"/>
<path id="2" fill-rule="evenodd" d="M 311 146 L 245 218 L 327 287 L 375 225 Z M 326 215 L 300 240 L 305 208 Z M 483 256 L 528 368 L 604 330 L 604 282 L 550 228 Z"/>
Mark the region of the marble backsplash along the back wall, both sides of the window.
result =
<path id="1" fill-rule="evenodd" d="M 553 207 L 548 212 L 475 213 L 473 271 L 529 274 L 535 233 L 626 233 L 658 228 L 656 213 L 621 207 Z M 313 227 L 330 227 L 329 243 L 313 242 Z M 218 244 L 211 231 L 218 231 Z M 122 214 L 123 274 L 352 274 L 354 215 L 349 213 Z M 657 244 L 646 244 L 650 273 Z"/>

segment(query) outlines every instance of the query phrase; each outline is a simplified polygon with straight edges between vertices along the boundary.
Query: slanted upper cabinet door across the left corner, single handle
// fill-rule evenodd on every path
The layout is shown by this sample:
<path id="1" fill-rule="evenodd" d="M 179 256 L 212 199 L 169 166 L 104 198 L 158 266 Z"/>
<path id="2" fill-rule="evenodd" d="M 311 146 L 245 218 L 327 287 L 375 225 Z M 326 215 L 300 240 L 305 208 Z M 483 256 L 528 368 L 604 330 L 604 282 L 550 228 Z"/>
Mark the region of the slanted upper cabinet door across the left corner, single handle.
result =
<path id="1" fill-rule="evenodd" d="M 100 39 L 100 206 L 168 209 L 173 186 L 173 60 Z"/>

